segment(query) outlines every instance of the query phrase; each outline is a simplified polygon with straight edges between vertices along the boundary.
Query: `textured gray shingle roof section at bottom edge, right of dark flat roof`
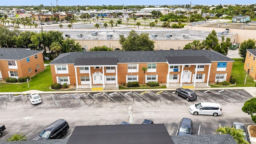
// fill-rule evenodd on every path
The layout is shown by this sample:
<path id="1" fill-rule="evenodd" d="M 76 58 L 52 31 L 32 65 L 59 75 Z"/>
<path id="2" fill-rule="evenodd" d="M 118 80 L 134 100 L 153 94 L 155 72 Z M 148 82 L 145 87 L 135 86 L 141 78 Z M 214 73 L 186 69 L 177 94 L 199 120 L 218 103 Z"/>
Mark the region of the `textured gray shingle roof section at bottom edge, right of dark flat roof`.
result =
<path id="1" fill-rule="evenodd" d="M 171 136 L 174 144 L 237 144 L 230 134 Z"/>

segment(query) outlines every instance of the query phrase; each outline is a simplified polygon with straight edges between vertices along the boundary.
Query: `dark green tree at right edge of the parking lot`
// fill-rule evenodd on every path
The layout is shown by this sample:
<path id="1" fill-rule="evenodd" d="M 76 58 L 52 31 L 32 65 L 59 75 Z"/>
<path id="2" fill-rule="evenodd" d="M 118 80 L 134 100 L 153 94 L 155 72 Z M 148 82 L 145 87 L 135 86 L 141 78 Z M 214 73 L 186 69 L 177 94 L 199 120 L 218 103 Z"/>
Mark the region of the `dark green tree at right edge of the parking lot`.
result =
<path id="1" fill-rule="evenodd" d="M 242 107 L 242 111 L 250 114 L 252 121 L 256 123 L 256 98 L 247 100 Z"/>

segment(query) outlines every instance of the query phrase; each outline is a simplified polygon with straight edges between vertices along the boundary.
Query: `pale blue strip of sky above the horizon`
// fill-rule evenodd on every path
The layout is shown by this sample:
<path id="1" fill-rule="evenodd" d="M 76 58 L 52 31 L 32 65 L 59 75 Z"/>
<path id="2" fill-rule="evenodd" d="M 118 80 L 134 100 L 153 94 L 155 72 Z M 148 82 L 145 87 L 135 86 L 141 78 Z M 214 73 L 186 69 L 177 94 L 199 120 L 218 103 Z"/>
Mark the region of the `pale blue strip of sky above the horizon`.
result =
<path id="1" fill-rule="evenodd" d="M 256 0 L 58 0 L 59 6 L 104 5 L 178 5 L 178 4 L 256 4 Z M 56 0 L 0 0 L 0 6 L 56 6 Z"/>

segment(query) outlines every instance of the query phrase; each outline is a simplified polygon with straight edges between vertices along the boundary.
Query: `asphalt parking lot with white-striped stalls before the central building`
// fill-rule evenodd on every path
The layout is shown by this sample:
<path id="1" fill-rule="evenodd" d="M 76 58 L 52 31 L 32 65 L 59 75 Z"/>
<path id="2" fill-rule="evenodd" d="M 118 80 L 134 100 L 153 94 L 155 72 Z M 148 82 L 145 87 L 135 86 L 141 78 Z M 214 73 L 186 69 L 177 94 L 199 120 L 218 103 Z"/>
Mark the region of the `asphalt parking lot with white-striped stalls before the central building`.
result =
<path id="1" fill-rule="evenodd" d="M 90 92 L 74 94 L 40 94 L 42 103 L 32 105 L 28 94 L 0 95 L 1 115 L 10 113 L 1 123 L 6 125 L 0 141 L 15 133 L 34 139 L 43 128 L 57 118 L 64 118 L 70 130 L 69 138 L 78 125 L 120 124 L 122 121 L 141 124 L 143 119 L 155 124 L 164 123 L 170 135 L 176 135 L 180 120 L 191 118 L 193 134 L 218 134 L 219 126 L 232 126 L 233 122 L 252 123 L 250 116 L 241 111 L 246 100 L 252 98 L 245 90 L 195 90 L 197 100 L 186 101 L 175 91 Z M 222 106 L 221 116 L 194 116 L 188 106 L 199 102 L 216 102 Z M 31 122 L 36 125 L 31 125 Z M 14 124 L 15 123 L 15 124 Z"/>

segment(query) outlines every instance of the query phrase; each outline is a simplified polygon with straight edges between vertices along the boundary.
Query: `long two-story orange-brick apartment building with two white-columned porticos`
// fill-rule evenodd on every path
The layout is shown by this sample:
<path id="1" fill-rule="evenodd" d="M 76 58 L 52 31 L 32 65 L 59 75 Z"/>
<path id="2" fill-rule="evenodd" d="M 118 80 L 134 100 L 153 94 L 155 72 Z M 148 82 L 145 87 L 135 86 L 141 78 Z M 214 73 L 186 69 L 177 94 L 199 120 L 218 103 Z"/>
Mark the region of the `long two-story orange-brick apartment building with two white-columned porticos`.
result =
<path id="1" fill-rule="evenodd" d="M 50 62 L 54 83 L 118 88 L 156 81 L 167 87 L 229 81 L 234 60 L 210 50 L 100 51 L 60 54 Z M 147 68 L 144 79 L 143 67 Z"/>

